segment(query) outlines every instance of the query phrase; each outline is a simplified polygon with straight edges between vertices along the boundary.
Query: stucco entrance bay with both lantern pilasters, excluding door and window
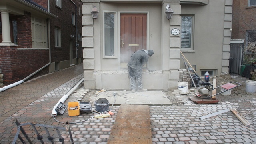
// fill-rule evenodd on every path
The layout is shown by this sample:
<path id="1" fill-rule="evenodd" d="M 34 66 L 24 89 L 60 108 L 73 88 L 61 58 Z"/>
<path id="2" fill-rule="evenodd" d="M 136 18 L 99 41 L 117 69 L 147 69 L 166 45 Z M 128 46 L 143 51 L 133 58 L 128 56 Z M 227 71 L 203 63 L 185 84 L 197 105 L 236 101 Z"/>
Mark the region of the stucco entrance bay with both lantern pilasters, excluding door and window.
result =
<path id="1" fill-rule="evenodd" d="M 172 0 L 168 1 L 171 2 Z M 175 1 L 178 2 L 178 1 Z M 174 4 L 174 3 L 172 3 Z M 83 27 L 83 55 L 85 87 L 106 89 L 129 89 L 127 67 L 120 66 L 120 42 L 118 42 L 118 55 L 116 58 L 104 58 L 103 56 L 103 11 L 117 12 L 117 30 L 120 30 L 120 14 L 144 13 L 147 14 L 147 50 L 154 50 L 154 55 L 149 58 L 147 68 L 154 70 L 151 73 L 143 73 L 144 88 L 168 89 L 176 88 L 179 79 L 179 36 L 171 36 L 171 27 L 180 27 L 180 5 L 175 3 L 176 19 L 173 24 L 165 16 L 167 3 L 109 3 L 109 2 L 84 2 L 82 6 Z M 92 6 L 99 9 L 99 18 L 92 20 L 90 10 Z M 177 23 L 178 22 L 178 23 Z M 173 26 L 172 26 L 173 25 Z M 117 34 L 117 40 L 120 41 Z M 177 45 L 178 44 L 178 45 Z M 170 50 L 171 49 L 171 50 Z M 174 50 L 174 51 L 173 51 Z M 177 52 L 176 52 L 177 51 Z M 174 55 L 177 54 L 178 56 Z M 162 71 L 165 70 L 165 71 Z M 156 73 L 157 71 L 157 73 Z M 173 71 L 173 72 L 172 72 Z M 110 72 L 111 74 L 106 74 Z M 126 74 L 124 74 L 126 72 Z M 173 74 L 172 76 L 170 76 Z M 110 84 L 111 83 L 111 84 Z"/>

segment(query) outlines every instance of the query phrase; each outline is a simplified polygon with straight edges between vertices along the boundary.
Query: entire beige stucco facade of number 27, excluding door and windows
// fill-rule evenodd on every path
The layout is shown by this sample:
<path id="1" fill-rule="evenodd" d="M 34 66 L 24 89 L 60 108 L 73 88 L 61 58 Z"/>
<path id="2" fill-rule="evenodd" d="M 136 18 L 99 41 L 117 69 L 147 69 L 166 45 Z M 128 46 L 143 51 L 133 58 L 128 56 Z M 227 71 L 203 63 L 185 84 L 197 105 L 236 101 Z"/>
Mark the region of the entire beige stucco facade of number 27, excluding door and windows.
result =
<path id="1" fill-rule="evenodd" d="M 229 57 L 229 44 L 231 33 L 232 0 L 214 0 L 207 4 L 180 5 L 178 0 L 156 2 L 154 4 L 140 2 L 123 3 L 84 0 L 84 15 L 82 24 L 84 29 L 92 30 L 91 34 L 83 32 L 84 76 L 86 88 L 110 88 L 127 89 L 129 79 L 122 71 L 127 68 L 120 67 L 120 35 L 118 33 L 118 55 L 116 58 L 103 57 L 103 21 L 104 10 L 117 12 L 117 30 L 119 28 L 120 13 L 146 13 L 148 14 L 147 50 L 154 50 L 154 55 L 149 58 L 148 69 L 158 70 L 142 75 L 142 83 L 148 89 L 177 88 L 179 69 L 184 68 L 184 62 L 180 58 L 180 34 L 172 35 L 170 30 L 180 29 L 182 14 L 194 16 L 194 41 L 193 50 L 184 51 L 184 55 L 192 64 L 200 69 L 215 70 L 216 73 L 226 71 Z M 116 2 L 116 3 L 115 3 Z M 167 20 L 165 16 L 166 6 L 170 4 L 174 11 L 173 19 Z M 99 18 L 92 20 L 90 10 L 92 6 L 99 9 Z M 106 74 L 106 72 L 113 74 Z M 115 76 L 116 74 L 116 76 Z M 152 83 L 153 82 L 153 83 Z M 111 85 L 110 85 L 111 84 Z"/>

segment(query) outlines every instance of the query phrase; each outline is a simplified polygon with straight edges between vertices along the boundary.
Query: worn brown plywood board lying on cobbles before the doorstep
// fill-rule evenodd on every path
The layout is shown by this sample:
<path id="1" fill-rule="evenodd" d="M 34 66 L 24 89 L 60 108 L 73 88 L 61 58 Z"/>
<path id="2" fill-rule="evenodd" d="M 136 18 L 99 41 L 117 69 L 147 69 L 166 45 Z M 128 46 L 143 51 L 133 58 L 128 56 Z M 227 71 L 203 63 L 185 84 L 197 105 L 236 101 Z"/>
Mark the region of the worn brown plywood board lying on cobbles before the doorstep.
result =
<path id="1" fill-rule="evenodd" d="M 152 144 L 149 106 L 122 104 L 107 144 Z"/>

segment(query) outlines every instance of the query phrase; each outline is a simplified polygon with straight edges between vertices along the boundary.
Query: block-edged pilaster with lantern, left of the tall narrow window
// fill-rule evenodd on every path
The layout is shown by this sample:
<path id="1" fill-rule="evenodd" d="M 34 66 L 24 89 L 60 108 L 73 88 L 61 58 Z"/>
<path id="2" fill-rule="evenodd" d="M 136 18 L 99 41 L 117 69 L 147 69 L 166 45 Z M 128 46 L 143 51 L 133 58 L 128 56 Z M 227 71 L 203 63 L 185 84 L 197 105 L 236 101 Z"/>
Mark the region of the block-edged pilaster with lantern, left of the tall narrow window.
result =
<path id="1" fill-rule="evenodd" d="M 100 0 L 82 0 L 82 47 L 84 64 L 84 87 L 96 88 L 95 70 L 100 70 L 100 20 L 92 19 L 93 6 L 100 9 Z M 100 14 L 99 14 L 100 16 Z"/>

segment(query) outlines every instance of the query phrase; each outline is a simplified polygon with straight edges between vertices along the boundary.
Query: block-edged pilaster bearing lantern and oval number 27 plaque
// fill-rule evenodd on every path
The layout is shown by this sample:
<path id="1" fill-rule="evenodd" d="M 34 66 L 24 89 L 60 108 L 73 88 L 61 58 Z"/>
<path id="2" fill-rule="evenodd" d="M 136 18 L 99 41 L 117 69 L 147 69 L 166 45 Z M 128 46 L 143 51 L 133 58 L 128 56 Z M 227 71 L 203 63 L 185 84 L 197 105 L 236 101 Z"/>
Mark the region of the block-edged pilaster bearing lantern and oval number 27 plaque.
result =
<path id="1" fill-rule="evenodd" d="M 165 16 L 166 6 L 173 10 L 172 19 L 167 20 Z M 162 48 L 163 48 L 163 70 L 169 70 L 168 89 L 177 88 L 180 68 L 180 34 L 171 33 L 173 29 L 181 31 L 181 6 L 180 0 L 164 0 L 162 4 Z"/>

